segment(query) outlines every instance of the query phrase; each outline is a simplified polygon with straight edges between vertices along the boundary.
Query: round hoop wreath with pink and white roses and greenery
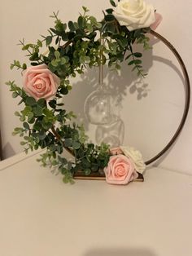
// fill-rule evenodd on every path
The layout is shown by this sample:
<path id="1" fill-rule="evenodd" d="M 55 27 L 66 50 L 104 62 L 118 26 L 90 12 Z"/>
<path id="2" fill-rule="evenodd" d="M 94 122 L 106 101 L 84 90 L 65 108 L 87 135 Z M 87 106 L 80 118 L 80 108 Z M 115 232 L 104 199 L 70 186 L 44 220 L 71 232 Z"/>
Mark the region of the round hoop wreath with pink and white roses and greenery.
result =
<path id="1" fill-rule="evenodd" d="M 36 44 L 20 41 L 23 51 L 28 52 L 31 66 L 14 60 L 12 68 L 23 70 L 23 87 L 7 82 L 12 96 L 20 97 L 24 109 L 15 112 L 22 127 L 16 127 L 13 135 L 24 137 L 21 144 L 25 152 L 46 148 L 41 155 L 42 166 L 63 174 L 64 183 L 75 179 L 106 179 L 107 183 L 127 184 L 132 180 L 143 180 L 146 166 L 156 161 L 172 146 L 182 127 L 190 107 L 190 81 L 185 64 L 176 49 L 154 30 L 161 15 L 154 7 L 142 0 L 110 0 L 112 8 L 103 11 L 104 18 L 98 22 L 83 7 L 76 22 L 63 23 L 55 18 L 55 27 L 49 35 L 37 40 Z M 144 162 L 142 154 L 132 147 L 110 148 L 102 143 L 87 142 L 83 126 L 72 123 L 75 115 L 67 112 L 59 99 L 72 89 L 69 78 L 84 73 L 85 68 L 106 64 L 109 68 L 120 69 L 120 63 L 127 61 L 137 75 L 145 77 L 142 69 L 142 53 L 133 51 L 133 44 L 142 44 L 149 49 L 151 33 L 159 38 L 177 57 L 185 77 L 185 108 L 181 123 L 169 143 L 155 157 Z M 46 53 L 41 49 L 46 45 Z M 63 149 L 72 154 L 74 160 L 63 157 Z"/>

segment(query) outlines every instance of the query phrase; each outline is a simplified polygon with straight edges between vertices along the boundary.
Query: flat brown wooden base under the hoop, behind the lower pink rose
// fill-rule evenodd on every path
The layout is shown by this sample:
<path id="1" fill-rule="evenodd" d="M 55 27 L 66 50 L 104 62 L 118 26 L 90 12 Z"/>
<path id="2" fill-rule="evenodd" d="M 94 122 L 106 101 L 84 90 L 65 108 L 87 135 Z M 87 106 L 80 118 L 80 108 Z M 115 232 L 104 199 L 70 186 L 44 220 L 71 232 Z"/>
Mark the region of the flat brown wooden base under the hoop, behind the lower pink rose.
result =
<path id="1" fill-rule="evenodd" d="M 105 180 L 105 174 L 99 173 L 99 172 L 93 172 L 89 175 L 85 175 L 83 171 L 79 170 L 76 172 L 76 174 L 73 175 L 74 179 L 89 179 L 89 180 Z M 138 173 L 137 179 L 134 179 L 134 181 L 143 182 L 144 177 L 142 174 Z"/>

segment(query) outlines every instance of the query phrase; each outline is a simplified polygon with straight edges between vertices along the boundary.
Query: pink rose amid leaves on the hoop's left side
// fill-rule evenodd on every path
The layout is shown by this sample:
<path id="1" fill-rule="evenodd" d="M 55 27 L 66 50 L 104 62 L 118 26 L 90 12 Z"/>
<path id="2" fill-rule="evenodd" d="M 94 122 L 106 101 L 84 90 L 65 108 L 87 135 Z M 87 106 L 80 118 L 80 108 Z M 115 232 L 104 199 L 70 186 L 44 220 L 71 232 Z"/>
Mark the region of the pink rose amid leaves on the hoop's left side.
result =
<path id="1" fill-rule="evenodd" d="M 34 99 L 54 99 L 60 79 L 46 66 L 32 66 L 24 71 L 24 90 Z"/>

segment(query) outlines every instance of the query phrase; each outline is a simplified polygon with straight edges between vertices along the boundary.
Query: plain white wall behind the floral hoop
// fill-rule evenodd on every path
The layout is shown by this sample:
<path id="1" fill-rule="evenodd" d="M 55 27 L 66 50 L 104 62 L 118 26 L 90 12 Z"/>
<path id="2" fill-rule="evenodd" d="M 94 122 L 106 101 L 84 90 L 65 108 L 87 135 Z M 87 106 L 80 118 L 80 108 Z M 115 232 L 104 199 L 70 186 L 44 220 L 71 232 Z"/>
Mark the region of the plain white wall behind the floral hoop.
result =
<path id="1" fill-rule="evenodd" d="M 171 0 L 151 0 L 151 3 L 164 16 L 157 32 L 177 48 L 191 74 L 192 2 L 186 0 L 183 4 Z M 49 17 L 53 11 L 59 10 L 59 17 L 64 21 L 76 20 L 81 6 L 85 6 L 89 7 L 93 15 L 97 15 L 99 19 L 103 16 L 102 10 L 110 4 L 107 0 L 33 0 L 33 2 L 7 0 L 0 5 L 0 126 L 4 157 L 11 157 L 22 151 L 20 138 L 11 135 L 13 128 L 20 126 L 20 121 L 13 114 L 18 107 L 16 100 L 11 98 L 5 82 L 8 80 L 15 80 L 18 84 L 21 82 L 20 72 L 9 69 L 12 60 L 21 60 L 21 62 L 25 60 L 24 52 L 20 51 L 20 46 L 16 46 L 19 39 L 25 38 L 26 42 L 35 42 L 40 34 L 46 34 L 46 30 L 53 25 L 53 20 Z M 161 42 L 154 44 L 153 51 L 145 53 L 145 63 L 145 68 L 149 72 L 145 83 L 149 91 L 142 99 L 138 99 L 138 93 L 134 91 L 135 77 L 133 74 L 128 74 L 127 66 L 123 65 L 121 77 L 114 78 L 113 74 L 107 72 L 105 75 L 110 80 L 113 93 L 116 85 L 119 86 L 118 91 L 122 96 L 120 117 L 125 127 L 124 144 L 129 143 L 139 148 L 148 159 L 168 143 L 168 139 L 177 129 L 183 110 L 184 89 L 181 68 L 172 53 Z M 83 118 L 82 108 L 85 97 L 94 90 L 90 84 L 95 85 L 97 80 L 95 77 L 97 74 L 93 70 L 86 73 L 83 78 L 74 79 L 72 94 L 64 99 L 68 108 L 73 109 L 81 118 Z M 85 126 L 89 135 L 94 138 L 93 130 L 96 127 L 88 124 Z M 191 130 L 190 108 L 180 138 L 167 156 L 159 161 L 160 166 L 192 174 Z"/>

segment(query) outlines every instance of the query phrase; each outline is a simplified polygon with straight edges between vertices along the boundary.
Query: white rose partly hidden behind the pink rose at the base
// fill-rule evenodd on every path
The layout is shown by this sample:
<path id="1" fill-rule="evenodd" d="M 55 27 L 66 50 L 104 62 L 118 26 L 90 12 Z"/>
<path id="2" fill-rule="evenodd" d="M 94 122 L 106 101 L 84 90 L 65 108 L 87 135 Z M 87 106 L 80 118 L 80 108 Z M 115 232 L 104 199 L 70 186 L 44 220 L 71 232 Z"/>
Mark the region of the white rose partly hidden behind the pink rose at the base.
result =
<path id="1" fill-rule="evenodd" d="M 137 170 L 138 173 L 142 174 L 143 171 L 146 169 L 146 164 L 142 159 L 142 153 L 139 152 L 137 149 L 131 147 L 120 146 L 120 149 L 125 156 L 131 158 L 134 163 L 135 170 Z"/>

